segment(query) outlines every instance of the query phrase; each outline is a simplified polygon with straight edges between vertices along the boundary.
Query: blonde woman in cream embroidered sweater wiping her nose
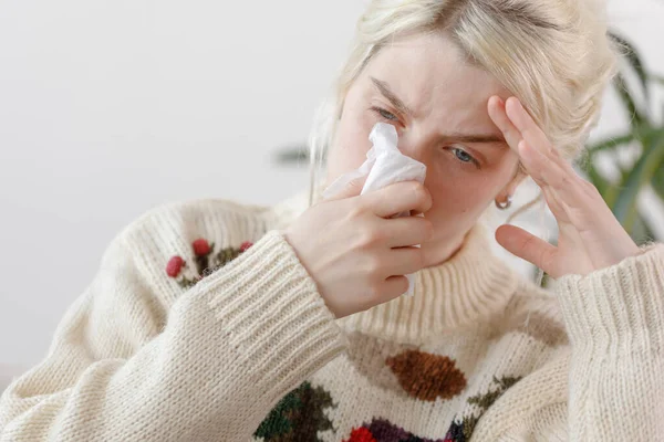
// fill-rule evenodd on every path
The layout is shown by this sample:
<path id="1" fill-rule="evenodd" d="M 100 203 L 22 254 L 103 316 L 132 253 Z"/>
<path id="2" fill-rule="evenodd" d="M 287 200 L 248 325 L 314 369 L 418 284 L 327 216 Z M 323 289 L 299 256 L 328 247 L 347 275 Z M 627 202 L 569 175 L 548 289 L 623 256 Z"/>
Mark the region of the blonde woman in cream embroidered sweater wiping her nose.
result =
<path id="1" fill-rule="evenodd" d="M 664 440 L 664 246 L 637 248 L 569 164 L 614 72 L 601 17 L 590 0 L 373 1 L 314 147 L 329 183 L 392 124 L 424 186 L 149 211 L 3 393 L 0 440 Z M 478 223 L 526 176 L 558 245 L 496 236 L 554 293 Z"/>

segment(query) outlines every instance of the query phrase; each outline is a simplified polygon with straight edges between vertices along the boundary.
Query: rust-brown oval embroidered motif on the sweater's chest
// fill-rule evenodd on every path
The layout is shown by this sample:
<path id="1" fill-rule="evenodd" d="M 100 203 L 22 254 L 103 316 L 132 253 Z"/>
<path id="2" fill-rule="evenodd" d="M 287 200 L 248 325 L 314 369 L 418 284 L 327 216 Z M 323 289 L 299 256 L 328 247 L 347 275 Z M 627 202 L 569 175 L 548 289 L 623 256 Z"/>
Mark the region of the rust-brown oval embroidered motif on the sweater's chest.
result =
<path id="1" fill-rule="evenodd" d="M 385 364 L 408 394 L 424 401 L 452 399 L 466 388 L 466 377 L 447 356 L 406 350 Z"/>

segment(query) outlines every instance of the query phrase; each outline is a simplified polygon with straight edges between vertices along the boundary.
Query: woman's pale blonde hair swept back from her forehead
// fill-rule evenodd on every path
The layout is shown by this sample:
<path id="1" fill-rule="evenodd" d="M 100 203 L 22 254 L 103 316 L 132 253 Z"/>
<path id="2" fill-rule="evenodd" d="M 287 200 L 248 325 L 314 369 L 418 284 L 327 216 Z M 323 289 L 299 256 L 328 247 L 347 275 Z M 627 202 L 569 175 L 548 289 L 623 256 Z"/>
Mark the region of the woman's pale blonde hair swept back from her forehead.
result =
<path id="1" fill-rule="evenodd" d="M 570 159 L 596 124 L 618 48 L 601 0 L 373 0 L 310 136 L 311 183 L 332 145 L 344 97 L 375 54 L 397 39 L 444 32 L 516 95 Z"/>

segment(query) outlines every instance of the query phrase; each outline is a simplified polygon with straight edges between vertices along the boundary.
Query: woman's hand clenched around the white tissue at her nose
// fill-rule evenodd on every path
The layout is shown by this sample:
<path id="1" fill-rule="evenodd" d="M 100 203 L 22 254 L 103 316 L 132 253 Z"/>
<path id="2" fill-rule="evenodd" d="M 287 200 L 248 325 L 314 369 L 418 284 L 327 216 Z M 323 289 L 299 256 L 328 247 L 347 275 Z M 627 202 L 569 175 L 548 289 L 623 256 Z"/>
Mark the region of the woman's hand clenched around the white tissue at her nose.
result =
<path id="1" fill-rule="evenodd" d="M 287 241 L 318 284 L 325 304 L 344 317 L 392 301 L 408 290 L 404 276 L 423 267 L 416 244 L 430 239 L 433 225 L 422 217 L 432 197 L 416 181 L 404 181 L 360 196 L 363 180 L 351 181 L 333 199 L 299 217 Z"/>

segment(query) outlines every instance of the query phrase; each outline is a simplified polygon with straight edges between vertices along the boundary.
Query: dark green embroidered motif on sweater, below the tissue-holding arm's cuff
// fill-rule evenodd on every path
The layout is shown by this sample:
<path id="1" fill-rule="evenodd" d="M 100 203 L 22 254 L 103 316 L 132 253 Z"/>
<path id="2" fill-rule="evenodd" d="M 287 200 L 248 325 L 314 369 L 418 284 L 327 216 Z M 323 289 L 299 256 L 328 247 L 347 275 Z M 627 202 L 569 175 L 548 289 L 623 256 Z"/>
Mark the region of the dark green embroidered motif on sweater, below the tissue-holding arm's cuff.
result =
<path id="1" fill-rule="evenodd" d="M 266 442 L 319 441 L 319 431 L 333 429 L 323 412 L 330 407 L 335 404 L 328 391 L 303 382 L 279 401 L 253 435 Z"/>

